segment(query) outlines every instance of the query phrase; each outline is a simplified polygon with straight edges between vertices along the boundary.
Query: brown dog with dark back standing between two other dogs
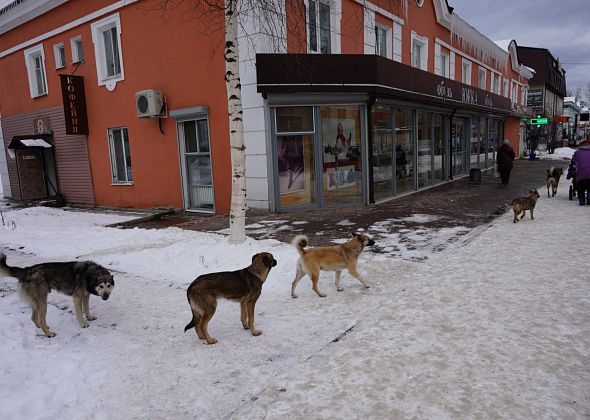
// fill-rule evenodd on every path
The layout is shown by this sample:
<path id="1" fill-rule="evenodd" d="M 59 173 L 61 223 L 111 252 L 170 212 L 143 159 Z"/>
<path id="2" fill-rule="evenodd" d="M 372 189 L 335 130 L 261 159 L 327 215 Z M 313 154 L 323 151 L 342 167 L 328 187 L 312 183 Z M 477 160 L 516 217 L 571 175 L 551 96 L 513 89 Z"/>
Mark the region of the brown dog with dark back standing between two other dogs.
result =
<path id="1" fill-rule="evenodd" d="M 240 302 L 242 326 L 249 329 L 254 336 L 262 331 L 254 327 L 254 306 L 262 292 L 262 285 L 277 265 L 277 260 L 268 252 L 261 252 L 252 257 L 252 264 L 236 271 L 203 274 L 191 283 L 186 291 L 191 306 L 193 319 L 184 327 L 184 332 L 195 327 L 197 335 L 207 344 L 217 340 L 209 335 L 207 325 L 217 308 L 217 299 L 225 298 Z"/>

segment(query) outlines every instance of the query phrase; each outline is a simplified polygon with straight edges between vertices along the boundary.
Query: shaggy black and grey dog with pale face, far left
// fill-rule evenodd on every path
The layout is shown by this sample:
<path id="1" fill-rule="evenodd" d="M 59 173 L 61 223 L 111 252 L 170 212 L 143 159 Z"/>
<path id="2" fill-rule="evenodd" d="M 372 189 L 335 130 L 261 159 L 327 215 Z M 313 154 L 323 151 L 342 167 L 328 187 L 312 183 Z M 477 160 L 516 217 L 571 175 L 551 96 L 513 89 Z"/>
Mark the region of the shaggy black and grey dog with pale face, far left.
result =
<path id="1" fill-rule="evenodd" d="M 96 319 L 90 315 L 90 295 L 107 300 L 115 287 L 111 273 L 91 261 L 52 262 L 19 268 L 7 265 L 6 255 L 0 254 L 0 275 L 18 279 L 21 297 L 33 310 L 31 320 L 47 337 L 55 336 L 45 320 L 51 289 L 74 298 L 76 319 L 81 328 L 86 328 L 87 321 Z"/>

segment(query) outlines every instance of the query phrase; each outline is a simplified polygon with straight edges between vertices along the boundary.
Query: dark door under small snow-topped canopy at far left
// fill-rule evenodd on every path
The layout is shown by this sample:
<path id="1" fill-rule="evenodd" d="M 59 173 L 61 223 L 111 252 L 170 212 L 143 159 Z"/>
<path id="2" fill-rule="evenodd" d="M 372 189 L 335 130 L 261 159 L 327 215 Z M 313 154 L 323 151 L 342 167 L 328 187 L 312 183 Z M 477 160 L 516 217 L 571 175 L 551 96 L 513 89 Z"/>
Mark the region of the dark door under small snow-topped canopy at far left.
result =
<path id="1" fill-rule="evenodd" d="M 16 164 L 22 200 L 47 198 L 47 186 L 43 172 L 41 150 L 25 149 L 16 151 Z"/>

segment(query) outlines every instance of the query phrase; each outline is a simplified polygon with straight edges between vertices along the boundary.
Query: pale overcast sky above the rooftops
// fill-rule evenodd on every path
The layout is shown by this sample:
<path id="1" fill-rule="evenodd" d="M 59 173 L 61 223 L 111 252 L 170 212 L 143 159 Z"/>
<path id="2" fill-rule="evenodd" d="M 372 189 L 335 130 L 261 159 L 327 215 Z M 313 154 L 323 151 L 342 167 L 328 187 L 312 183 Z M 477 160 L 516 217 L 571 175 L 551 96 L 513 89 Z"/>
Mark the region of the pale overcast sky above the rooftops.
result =
<path id="1" fill-rule="evenodd" d="M 448 0 L 492 41 L 547 48 L 566 70 L 568 90 L 590 84 L 590 0 Z"/>

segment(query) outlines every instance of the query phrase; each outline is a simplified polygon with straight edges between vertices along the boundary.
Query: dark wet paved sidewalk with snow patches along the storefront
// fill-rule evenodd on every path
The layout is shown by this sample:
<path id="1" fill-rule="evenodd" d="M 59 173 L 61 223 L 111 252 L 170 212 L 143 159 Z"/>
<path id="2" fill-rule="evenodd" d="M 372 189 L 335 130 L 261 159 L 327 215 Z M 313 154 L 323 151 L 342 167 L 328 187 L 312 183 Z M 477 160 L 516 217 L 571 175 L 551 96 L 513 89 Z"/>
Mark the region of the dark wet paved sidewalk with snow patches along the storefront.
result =
<path id="1" fill-rule="evenodd" d="M 406 229 L 449 227 L 473 228 L 489 222 L 507 209 L 506 203 L 526 195 L 528 190 L 545 184 L 550 166 L 567 166 L 566 161 L 517 160 L 510 184 L 500 184 L 492 171 L 482 172 L 480 185 L 469 185 L 468 177 L 456 179 L 428 190 L 394 200 L 354 208 L 298 210 L 284 213 L 251 209 L 247 212 L 247 235 L 256 239 L 276 239 L 290 242 L 296 233 L 314 233 L 315 245 L 329 243 L 349 236 L 351 231 L 378 231 L 377 234 L 399 233 Z M 561 179 L 560 188 L 569 188 L 570 181 Z M 541 201 L 547 199 L 546 190 L 539 191 Z M 542 211 L 542 204 L 541 204 Z M 413 215 L 430 215 L 417 217 Z M 387 224 L 384 221 L 390 221 Z M 375 229 L 378 224 L 379 229 Z M 228 228 L 227 215 L 211 217 L 182 213 L 164 216 L 134 226 L 142 228 L 178 227 L 182 229 L 219 232 Z M 318 243 L 319 242 L 319 243 Z M 377 252 L 379 252 L 377 250 Z"/>

